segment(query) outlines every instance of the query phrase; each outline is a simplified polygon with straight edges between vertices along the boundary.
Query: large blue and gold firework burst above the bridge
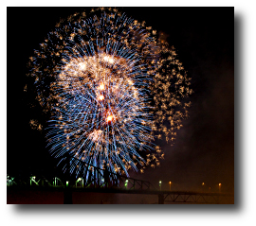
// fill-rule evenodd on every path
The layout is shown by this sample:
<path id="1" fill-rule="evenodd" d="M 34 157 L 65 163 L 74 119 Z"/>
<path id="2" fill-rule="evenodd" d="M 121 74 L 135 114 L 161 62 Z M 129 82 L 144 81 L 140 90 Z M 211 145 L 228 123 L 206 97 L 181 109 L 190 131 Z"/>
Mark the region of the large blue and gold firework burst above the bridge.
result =
<path id="1" fill-rule="evenodd" d="M 70 173 L 88 179 L 86 164 L 143 172 L 164 156 L 155 139 L 174 142 L 192 90 L 174 47 L 157 35 L 117 9 L 93 9 L 61 21 L 30 58 L 37 100 L 51 114 L 48 147 L 74 157 Z"/>

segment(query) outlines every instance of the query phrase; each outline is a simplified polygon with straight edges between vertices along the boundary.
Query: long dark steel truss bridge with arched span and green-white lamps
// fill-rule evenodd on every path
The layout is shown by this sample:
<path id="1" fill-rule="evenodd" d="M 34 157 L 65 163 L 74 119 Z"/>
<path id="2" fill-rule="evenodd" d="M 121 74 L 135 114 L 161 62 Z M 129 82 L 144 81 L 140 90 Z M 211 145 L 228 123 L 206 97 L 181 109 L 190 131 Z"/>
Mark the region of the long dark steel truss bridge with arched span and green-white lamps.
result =
<path id="1" fill-rule="evenodd" d="M 84 164 L 82 161 L 64 156 L 63 163 L 82 165 L 83 177 L 77 177 L 74 172 L 70 175 L 70 165 L 65 164 L 67 170 L 60 176 L 56 175 L 29 175 L 7 176 L 9 190 L 33 190 L 33 191 L 60 191 L 64 193 L 64 204 L 71 204 L 72 192 L 82 193 L 117 193 L 117 194 L 140 194 L 154 195 L 158 197 L 158 204 L 164 203 L 233 203 L 233 194 L 206 193 L 192 191 L 161 191 L 157 190 L 152 183 L 119 175 L 94 165 Z M 92 173 L 92 171 L 94 173 Z M 84 175 L 90 175 L 85 179 Z"/>

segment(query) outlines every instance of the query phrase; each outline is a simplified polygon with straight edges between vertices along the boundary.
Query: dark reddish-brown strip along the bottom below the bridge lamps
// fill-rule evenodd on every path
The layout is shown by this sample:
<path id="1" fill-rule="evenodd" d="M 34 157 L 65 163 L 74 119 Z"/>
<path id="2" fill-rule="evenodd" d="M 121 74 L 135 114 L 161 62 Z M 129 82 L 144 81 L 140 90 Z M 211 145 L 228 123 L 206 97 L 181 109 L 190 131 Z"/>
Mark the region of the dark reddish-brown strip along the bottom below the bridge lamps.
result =
<path id="1" fill-rule="evenodd" d="M 93 190 L 64 187 L 38 189 L 11 186 L 7 188 L 8 204 L 233 204 L 233 194 L 168 192 L 137 193 L 129 190 Z"/>

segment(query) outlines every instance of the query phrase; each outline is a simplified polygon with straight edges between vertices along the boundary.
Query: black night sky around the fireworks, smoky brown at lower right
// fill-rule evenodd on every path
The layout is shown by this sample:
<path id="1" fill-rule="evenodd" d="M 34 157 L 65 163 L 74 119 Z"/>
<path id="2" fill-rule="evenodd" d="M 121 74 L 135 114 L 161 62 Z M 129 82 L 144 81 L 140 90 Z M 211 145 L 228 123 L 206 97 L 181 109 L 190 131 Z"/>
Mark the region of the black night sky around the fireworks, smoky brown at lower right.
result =
<path id="1" fill-rule="evenodd" d="M 128 16 L 164 32 L 192 78 L 190 117 L 174 146 L 163 144 L 165 160 L 134 178 L 168 189 L 223 191 L 234 186 L 234 9 L 122 8 Z M 54 161 L 44 136 L 28 125 L 32 115 L 23 89 L 27 61 L 60 18 L 76 8 L 8 9 L 8 172 L 44 168 Z"/>

